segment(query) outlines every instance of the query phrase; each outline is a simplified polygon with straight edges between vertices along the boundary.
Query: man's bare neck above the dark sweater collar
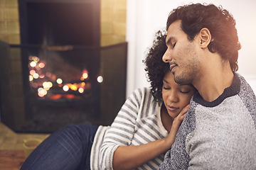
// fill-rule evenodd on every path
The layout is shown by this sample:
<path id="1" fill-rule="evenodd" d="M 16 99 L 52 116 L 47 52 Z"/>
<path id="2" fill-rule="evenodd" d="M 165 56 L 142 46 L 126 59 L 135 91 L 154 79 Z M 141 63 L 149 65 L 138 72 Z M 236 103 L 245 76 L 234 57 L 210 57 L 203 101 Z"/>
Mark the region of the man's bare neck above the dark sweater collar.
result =
<path id="1" fill-rule="evenodd" d="M 229 63 L 219 67 L 217 65 L 212 67 L 212 69 L 208 68 L 206 70 L 193 85 L 205 101 L 211 102 L 223 94 L 226 88 L 231 86 L 234 74 Z"/>

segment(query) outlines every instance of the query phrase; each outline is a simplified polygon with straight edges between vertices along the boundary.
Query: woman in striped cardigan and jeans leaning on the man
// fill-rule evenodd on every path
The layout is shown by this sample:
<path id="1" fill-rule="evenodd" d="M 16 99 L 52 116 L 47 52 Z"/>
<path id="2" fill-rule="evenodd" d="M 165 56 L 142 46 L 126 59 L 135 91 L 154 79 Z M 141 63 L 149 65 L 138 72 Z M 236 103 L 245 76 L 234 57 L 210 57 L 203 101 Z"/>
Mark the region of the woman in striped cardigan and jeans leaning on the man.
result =
<path id="1" fill-rule="evenodd" d="M 146 55 L 151 89 L 134 91 L 111 127 L 81 124 L 59 130 L 31 153 L 21 169 L 156 169 L 196 91 L 176 84 L 169 65 L 161 61 L 165 36 L 158 32 Z"/>

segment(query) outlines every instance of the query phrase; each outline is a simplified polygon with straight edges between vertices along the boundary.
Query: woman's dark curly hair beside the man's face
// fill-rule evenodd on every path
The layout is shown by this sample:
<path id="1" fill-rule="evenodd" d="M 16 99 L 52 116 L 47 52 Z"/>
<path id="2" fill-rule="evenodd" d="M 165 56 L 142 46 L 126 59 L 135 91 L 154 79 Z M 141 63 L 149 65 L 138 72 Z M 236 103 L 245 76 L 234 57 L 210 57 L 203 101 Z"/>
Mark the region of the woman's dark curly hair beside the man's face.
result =
<path id="1" fill-rule="evenodd" d="M 164 74 L 169 71 L 168 63 L 163 62 L 162 57 L 167 50 L 166 47 L 166 31 L 159 30 L 153 41 L 152 47 L 146 53 L 146 77 L 151 84 L 151 93 L 156 101 L 162 99 L 162 87 Z"/>

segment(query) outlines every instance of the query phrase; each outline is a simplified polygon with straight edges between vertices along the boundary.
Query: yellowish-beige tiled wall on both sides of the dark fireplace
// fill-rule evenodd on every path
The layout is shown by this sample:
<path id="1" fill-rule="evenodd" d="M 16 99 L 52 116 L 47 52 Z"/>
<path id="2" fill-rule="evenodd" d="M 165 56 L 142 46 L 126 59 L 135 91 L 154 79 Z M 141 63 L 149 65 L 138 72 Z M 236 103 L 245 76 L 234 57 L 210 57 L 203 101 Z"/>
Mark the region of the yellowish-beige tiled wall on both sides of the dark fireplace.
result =
<path id="1" fill-rule="evenodd" d="M 100 46 L 125 42 L 127 0 L 101 0 Z M 0 40 L 20 44 L 18 0 L 0 0 Z"/>

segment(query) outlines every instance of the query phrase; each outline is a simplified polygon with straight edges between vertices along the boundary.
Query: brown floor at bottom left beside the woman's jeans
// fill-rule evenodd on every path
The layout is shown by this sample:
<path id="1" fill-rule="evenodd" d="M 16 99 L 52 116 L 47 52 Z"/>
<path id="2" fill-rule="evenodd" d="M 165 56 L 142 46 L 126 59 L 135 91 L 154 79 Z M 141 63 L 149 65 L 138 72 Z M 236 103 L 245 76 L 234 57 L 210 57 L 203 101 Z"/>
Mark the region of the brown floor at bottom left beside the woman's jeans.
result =
<path id="1" fill-rule="evenodd" d="M 0 122 L 0 169 L 20 169 L 25 158 L 23 141 L 30 138 L 46 139 L 49 134 L 16 133 Z"/>

